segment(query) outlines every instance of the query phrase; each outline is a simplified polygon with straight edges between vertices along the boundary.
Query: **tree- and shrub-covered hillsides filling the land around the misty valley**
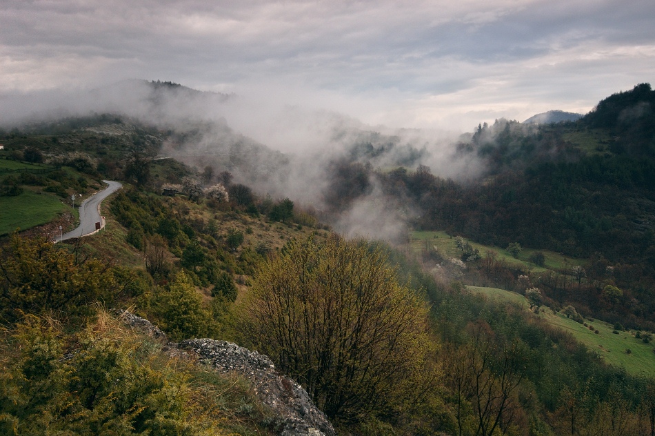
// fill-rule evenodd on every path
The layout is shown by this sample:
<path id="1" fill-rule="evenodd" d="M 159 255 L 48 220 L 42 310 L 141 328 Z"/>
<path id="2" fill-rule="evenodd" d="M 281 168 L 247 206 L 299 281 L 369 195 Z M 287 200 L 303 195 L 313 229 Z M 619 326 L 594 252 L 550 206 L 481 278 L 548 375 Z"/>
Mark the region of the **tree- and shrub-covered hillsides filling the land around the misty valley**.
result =
<path id="1" fill-rule="evenodd" d="M 62 199 L 54 219 L 3 230 L 2 433 L 279 434 L 258 386 L 164 353 L 112 315 L 128 308 L 174 341 L 266 353 L 343 435 L 655 435 L 652 374 L 548 322 L 609 321 L 615 353 L 637 355 L 634 340 L 654 354 L 653 95 L 639 85 L 574 123 L 481 125 L 452 149 L 480 164 L 461 178 L 359 132 L 327 159 L 315 205 L 261 191 L 292 159 L 221 123 L 112 114 L 2 132 L 0 201 Z M 171 158 L 208 131 L 233 155 Z M 52 244 L 74 224 L 70 196 L 102 179 L 125 185 L 107 227 Z M 405 220 L 398 244 L 332 232 L 365 198 Z"/>

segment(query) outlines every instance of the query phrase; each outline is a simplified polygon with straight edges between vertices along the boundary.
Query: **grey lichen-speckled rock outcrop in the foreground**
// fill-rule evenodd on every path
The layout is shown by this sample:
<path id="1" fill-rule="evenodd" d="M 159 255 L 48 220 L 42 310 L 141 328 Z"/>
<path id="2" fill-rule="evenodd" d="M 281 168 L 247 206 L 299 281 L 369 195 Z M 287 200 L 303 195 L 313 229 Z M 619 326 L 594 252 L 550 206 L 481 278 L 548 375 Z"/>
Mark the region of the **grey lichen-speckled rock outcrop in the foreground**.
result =
<path id="1" fill-rule="evenodd" d="M 165 333 L 150 321 L 127 311 L 121 313 L 125 324 L 141 330 L 155 339 L 166 340 Z M 179 344 L 168 344 L 172 353 L 186 353 L 197 357 L 221 373 L 237 373 L 252 383 L 260 401 L 276 415 L 281 436 L 336 436 L 332 424 L 295 381 L 275 370 L 265 355 L 236 344 L 214 339 L 188 339 Z"/>

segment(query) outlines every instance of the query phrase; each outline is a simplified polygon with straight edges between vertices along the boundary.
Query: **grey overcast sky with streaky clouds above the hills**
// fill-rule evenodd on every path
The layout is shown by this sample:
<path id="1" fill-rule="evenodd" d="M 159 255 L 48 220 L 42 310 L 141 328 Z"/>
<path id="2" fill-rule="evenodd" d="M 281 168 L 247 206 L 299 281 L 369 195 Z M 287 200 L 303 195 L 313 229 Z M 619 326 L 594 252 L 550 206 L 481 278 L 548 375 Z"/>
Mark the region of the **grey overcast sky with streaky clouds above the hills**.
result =
<path id="1" fill-rule="evenodd" d="M 470 131 L 654 75 L 653 0 L 0 0 L 0 96 L 159 79 Z"/>

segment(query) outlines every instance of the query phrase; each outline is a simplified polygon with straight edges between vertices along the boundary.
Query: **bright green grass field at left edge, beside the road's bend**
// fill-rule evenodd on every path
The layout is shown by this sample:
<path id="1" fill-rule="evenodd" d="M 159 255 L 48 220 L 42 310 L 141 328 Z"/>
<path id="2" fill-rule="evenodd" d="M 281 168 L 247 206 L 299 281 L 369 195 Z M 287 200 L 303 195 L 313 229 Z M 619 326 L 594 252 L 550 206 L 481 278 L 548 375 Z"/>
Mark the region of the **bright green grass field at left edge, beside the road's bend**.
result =
<path id="1" fill-rule="evenodd" d="M 59 197 L 26 189 L 17 197 L 0 197 L 0 235 L 47 224 L 70 210 Z"/>

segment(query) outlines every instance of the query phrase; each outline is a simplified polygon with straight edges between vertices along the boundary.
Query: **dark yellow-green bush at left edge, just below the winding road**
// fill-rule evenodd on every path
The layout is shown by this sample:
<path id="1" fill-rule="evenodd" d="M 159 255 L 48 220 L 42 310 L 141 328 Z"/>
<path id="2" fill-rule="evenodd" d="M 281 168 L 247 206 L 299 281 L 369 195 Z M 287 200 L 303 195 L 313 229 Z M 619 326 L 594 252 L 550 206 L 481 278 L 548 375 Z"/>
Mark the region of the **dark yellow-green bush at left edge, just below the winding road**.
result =
<path id="1" fill-rule="evenodd" d="M 12 235 L 1 257 L 0 317 L 5 321 L 48 311 L 88 315 L 95 301 L 114 297 L 116 282 L 103 262 L 78 263 L 73 253 L 45 239 Z"/>

